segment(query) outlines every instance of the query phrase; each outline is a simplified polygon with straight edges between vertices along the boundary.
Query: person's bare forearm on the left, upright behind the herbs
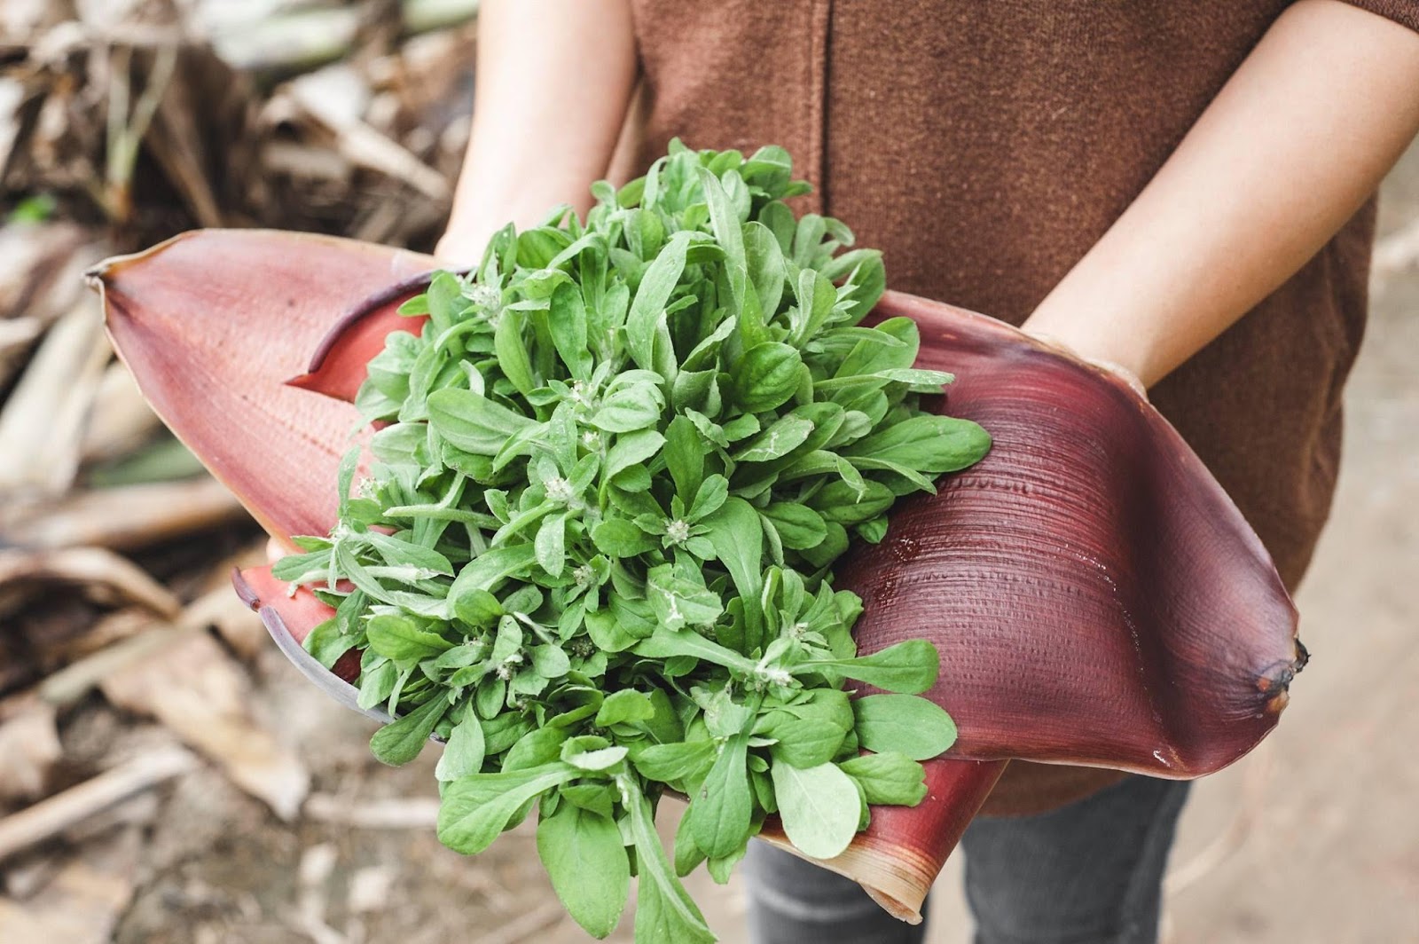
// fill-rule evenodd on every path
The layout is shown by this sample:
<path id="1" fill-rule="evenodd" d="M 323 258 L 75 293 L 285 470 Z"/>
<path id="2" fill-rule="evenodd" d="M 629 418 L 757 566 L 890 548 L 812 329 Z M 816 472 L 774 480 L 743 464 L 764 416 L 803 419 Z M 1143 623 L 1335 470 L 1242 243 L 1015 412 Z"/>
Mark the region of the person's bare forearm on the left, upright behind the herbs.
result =
<path id="1" fill-rule="evenodd" d="M 473 264 L 508 223 L 586 210 L 634 79 L 629 0 L 485 0 L 473 133 L 437 254 Z"/>

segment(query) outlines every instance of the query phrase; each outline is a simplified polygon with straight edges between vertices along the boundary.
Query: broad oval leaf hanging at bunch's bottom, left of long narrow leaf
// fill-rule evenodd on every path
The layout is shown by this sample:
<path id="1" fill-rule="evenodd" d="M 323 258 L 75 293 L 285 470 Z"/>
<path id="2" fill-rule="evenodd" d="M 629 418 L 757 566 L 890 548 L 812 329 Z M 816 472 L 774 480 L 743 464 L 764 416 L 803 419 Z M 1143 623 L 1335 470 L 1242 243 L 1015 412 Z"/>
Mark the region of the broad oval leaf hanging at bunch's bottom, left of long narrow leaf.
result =
<path id="1" fill-rule="evenodd" d="M 630 857 L 614 820 L 562 803 L 538 822 L 536 852 L 572 920 L 595 938 L 616 930 L 630 896 Z"/>

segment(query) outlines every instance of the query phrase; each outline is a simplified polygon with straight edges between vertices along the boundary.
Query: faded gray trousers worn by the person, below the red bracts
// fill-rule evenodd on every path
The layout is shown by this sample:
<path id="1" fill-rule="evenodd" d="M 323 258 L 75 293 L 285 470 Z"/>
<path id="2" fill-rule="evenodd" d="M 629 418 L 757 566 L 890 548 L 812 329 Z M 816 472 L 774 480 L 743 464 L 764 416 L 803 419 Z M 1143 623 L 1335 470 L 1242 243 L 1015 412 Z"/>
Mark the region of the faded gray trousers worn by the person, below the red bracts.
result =
<path id="1" fill-rule="evenodd" d="M 1188 784 L 1130 776 L 1039 816 L 966 829 L 976 944 L 1154 944 Z M 762 842 L 745 860 L 753 944 L 921 944 L 854 882 Z M 925 913 L 925 907 L 922 907 Z"/>

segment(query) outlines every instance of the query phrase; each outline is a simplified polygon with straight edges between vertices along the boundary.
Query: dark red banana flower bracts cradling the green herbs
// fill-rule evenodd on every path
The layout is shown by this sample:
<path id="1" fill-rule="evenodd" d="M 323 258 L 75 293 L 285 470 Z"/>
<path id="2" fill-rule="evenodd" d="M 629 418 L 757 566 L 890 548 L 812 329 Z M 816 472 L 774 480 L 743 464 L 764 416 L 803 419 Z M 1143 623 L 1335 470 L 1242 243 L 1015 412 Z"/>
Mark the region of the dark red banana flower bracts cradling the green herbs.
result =
<path id="1" fill-rule="evenodd" d="M 396 309 L 434 267 L 336 237 L 203 230 L 104 263 L 91 280 L 159 416 L 288 539 L 333 524 L 336 466 L 359 422 L 346 400 L 390 331 L 420 328 Z M 887 538 L 837 568 L 866 605 L 864 653 L 918 636 L 937 644 L 929 694 L 959 728 L 927 762 L 927 799 L 876 808 L 824 863 L 920 920 L 1007 759 L 1210 774 L 1274 727 L 1304 650 L 1257 537 L 1125 383 L 951 305 L 887 292 L 873 318 L 895 315 L 921 331 L 918 366 L 956 375 L 944 409 L 995 440 L 938 494 L 904 500 Z M 298 643 L 328 616 L 324 603 L 288 595 L 264 568 L 238 588 L 321 681 Z M 341 698 L 353 674 L 336 669 L 348 677 L 322 687 Z M 772 825 L 765 836 L 786 845 Z"/>

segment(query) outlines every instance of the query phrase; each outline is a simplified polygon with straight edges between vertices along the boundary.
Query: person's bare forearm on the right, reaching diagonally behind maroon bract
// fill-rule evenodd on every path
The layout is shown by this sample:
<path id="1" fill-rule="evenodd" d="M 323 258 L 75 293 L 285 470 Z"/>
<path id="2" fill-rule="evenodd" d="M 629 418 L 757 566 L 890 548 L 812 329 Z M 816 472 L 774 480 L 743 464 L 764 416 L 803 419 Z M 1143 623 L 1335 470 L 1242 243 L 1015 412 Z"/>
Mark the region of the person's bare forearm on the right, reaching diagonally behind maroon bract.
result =
<path id="1" fill-rule="evenodd" d="M 1301 268 L 1419 131 L 1419 34 L 1301 0 L 1026 331 L 1145 385 Z"/>

